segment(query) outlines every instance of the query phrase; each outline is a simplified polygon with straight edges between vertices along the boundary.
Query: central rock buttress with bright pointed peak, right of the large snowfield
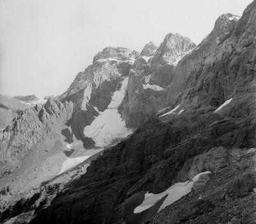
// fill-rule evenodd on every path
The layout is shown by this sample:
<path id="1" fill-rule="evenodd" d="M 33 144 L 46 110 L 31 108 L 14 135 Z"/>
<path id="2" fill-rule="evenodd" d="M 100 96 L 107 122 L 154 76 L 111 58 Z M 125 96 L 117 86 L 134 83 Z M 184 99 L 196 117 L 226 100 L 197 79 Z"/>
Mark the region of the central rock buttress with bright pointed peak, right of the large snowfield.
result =
<path id="1" fill-rule="evenodd" d="M 155 51 L 145 49 L 132 65 L 120 113 L 128 127 L 139 127 L 147 118 L 166 105 L 166 86 L 172 83 L 174 66 L 195 48 L 188 37 L 169 33 Z M 156 49 L 156 47 L 151 47 Z M 153 56 L 154 55 L 154 56 Z"/>

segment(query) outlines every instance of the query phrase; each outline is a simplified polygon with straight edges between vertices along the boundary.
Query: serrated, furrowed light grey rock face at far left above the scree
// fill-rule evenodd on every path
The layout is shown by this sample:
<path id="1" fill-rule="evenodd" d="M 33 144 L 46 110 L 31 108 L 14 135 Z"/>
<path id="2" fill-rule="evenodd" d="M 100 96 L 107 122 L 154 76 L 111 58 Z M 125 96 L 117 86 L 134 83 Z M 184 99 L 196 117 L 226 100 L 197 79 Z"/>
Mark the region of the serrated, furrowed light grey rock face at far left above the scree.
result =
<path id="1" fill-rule="evenodd" d="M 0 132 L 1 177 L 22 163 L 22 159 L 46 136 L 54 136 L 71 118 L 72 102 L 62 104 L 49 99 L 44 106 L 19 111 L 17 117 Z"/>

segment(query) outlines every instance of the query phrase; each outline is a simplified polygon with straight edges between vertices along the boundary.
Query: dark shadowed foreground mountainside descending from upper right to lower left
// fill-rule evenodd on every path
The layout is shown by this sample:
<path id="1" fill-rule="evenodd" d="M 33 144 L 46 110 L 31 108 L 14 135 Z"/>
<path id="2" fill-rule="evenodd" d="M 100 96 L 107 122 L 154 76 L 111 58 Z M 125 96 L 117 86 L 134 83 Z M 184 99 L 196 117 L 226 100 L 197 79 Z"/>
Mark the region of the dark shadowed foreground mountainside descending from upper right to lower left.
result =
<path id="1" fill-rule="evenodd" d="M 189 74 L 188 87 L 172 111 L 150 118 L 92 161 L 49 207 L 37 207 L 31 223 L 144 223 L 154 215 L 152 223 L 228 223 L 237 219 L 232 206 L 241 209 L 242 223 L 252 221 L 255 36 L 253 1 L 230 35 Z M 164 193 L 205 171 L 212 175 L 195 182 L 176 207 L 171 204 L 157 214 L 168 197 L 164 195 L 134 212 L 147 192 Z"/>

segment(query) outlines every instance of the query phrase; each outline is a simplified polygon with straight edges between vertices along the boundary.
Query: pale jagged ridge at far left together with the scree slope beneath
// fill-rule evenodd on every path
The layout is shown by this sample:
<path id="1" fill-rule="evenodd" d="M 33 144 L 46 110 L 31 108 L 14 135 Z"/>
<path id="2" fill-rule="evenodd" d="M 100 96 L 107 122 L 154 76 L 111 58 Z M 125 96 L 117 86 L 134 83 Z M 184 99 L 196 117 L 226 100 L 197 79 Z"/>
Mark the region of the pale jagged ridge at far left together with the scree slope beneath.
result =
<path id="1" fill-rule="evenodd" d="M 0 131 L 0 207 L 58 174 L 67 158 L 61 132 L 67 129 L 72 111 L 72 102 L 49 99 L 44 105 L 20 109 Z"/>

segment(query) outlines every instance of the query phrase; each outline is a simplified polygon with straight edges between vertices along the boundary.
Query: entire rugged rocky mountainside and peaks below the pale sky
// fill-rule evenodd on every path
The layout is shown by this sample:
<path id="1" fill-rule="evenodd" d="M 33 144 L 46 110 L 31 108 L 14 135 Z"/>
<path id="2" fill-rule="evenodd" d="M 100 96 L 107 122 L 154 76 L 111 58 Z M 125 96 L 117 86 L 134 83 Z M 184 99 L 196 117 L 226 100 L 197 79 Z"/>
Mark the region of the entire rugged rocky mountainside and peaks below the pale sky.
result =
<path id="1" fill-rule="evenodd" d="M 59 97 L 0 95 L 1 223 L 255 223 L 256 0 L 141 49 Z"/>

